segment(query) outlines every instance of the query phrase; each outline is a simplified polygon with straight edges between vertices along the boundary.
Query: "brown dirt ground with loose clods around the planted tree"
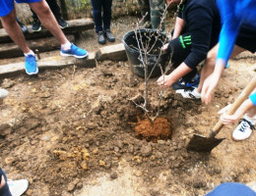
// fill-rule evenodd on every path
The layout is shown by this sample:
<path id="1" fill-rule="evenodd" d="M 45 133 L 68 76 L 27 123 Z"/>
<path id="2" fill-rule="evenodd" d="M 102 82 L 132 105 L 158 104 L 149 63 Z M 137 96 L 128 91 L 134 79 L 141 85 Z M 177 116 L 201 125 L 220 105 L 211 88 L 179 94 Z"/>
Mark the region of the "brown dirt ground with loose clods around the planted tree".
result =
<path id="1" fill-rule="evenodd" d="M 128 27 L 116 23 L 120 42 Z M 83 32 L 77 44 L 89 51 L 100 47 L 94 31 Z M 1 79 L 10 94 L 0 104 L 0 166 L 10 178 L 28 178 L 25 195 L 32 196 L 197 196 L 222 182 L 256 180 L 255 132 L 235 142 L 230 135 L 236 124 L 228 125 L 217 136 L 224 141 L 211 154 L 185 148 L 194 133 L 209 134 L 217 112 L 255 74 L 255 59 L 244 53 L 230 60 L 209 106 L 166 89 L 160 117 L 171 124 L 172 134 L 158 142 L 135 134 L 137 110 L 130 99 L 143 92 L 144 82 L 130 72 L 128 62 Z M 152 103 L 156 80 L 150 82 Z"/>

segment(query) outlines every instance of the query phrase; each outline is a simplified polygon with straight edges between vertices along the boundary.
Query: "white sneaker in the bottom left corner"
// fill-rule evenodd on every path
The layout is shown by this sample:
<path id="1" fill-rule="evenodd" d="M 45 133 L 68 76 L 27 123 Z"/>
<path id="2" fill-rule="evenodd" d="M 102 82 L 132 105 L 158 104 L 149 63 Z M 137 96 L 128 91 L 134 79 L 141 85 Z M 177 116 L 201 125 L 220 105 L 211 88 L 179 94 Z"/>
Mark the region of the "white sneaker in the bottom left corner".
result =
<path id="1" fill-rule="evenodd" d="M 29 181 L 27 179 L 11 180 L 8 179 L 10 192 L 13 196 L 21 196 L 29 187 Z"/>

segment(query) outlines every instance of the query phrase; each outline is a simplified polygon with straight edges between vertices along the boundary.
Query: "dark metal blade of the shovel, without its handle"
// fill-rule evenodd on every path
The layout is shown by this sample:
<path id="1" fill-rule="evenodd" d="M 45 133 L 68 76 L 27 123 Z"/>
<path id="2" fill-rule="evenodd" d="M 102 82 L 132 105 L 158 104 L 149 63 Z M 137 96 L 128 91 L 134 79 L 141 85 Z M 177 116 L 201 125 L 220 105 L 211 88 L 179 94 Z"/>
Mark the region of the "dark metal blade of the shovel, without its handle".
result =
<path id="1" fill-rule="evenodd" d="M 218 146 L 224 138 L 205 137 L 203 135 L 194 134 L 192 139 L 187 144 L 188 151 L 197 151 L 204 153 L 211 153 L 211 151 Z"/>

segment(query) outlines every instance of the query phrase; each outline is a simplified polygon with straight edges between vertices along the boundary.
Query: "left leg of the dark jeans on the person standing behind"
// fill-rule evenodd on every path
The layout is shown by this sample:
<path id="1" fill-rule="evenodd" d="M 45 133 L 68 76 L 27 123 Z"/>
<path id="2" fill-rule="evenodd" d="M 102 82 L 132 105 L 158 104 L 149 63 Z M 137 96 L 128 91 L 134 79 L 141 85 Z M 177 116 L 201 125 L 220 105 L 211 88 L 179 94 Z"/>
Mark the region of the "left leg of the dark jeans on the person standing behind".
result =
<path id="1" fill-rule="evenodd" d="M 102 31 L 101 2 L 104 0 L 92 0 L 93 18 L 96 25 L 96 32 Z"/>

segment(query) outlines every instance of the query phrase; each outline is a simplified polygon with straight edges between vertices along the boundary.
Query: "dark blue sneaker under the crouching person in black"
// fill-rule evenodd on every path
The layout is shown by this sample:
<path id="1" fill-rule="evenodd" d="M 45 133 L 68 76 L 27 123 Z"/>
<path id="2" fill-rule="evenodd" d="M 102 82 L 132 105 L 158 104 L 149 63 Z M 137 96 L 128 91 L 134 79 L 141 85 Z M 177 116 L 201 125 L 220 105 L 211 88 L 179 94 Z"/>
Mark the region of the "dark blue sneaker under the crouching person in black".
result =
<path id="1" fill-rule="evenodd" d="M 188 81 L 183 78 L 179 79 L 177 82 L 172 84 L 172 87 L 175 90 L 196 88 L 199 84 L 199 81 L 200 74 L 196 74 L 192 79 Z"/>

